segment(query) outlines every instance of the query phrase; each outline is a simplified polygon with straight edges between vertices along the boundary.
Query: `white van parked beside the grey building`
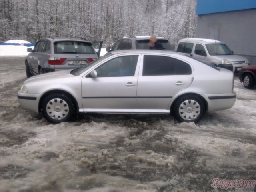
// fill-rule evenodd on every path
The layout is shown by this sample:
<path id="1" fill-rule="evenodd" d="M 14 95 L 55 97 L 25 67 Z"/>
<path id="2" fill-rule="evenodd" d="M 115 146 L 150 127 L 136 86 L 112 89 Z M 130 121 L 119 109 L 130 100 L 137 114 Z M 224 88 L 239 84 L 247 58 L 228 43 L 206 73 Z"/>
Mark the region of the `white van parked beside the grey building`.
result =
<path id="1" fill-rule="evenodd" d="M 213 39 L 187 38 L 178 42 L 177 52 L 201 60 L 214 66 L 226 68 L 238 73 L 249 61 L 234 53 L 226 44 Z"/>

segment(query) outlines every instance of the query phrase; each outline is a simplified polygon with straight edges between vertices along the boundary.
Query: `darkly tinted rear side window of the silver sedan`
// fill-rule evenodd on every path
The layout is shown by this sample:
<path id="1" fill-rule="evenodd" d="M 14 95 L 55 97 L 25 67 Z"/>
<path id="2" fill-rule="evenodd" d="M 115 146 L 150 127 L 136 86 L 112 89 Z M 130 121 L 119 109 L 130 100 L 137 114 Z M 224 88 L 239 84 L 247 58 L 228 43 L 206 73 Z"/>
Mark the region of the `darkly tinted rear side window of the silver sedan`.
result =
<path id="1" fill-rule="evenodd" d="M 191 66 L 181 60 L 167 56 L 144 56 L 142 76 L 189 74 L 192 74 Z"/>

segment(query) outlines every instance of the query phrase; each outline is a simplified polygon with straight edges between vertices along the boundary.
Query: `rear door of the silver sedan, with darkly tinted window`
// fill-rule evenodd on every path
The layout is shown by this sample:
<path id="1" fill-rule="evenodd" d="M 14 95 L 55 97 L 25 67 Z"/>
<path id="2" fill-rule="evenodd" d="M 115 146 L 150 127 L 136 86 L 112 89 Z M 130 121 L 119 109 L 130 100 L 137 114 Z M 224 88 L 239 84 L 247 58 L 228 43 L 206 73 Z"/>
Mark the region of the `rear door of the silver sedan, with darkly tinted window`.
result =
<path id="1" fill-rule="evenodd" d="M 186 89 L 192 82 L 191 66 L 176 58 L 144 55 L 140 67 L 136 108 L 141 112 L 169 113 L 173 96 Z"/>

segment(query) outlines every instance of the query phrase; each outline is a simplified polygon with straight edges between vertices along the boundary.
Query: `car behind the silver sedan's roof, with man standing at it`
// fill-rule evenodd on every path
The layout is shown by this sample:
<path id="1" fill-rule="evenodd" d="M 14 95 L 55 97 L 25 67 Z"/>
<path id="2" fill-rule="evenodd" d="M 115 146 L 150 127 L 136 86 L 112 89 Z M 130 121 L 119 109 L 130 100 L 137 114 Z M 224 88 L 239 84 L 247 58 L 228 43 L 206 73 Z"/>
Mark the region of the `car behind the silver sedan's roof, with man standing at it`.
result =
<path id="1" fill-rule="evenodd" d="M 106 51 L 127 50 L 127 49 L 149 49 L 150 36 L 124 36 L 117 40 L 111 47 L 107 47 Z M 164 50 L 174 50 L 168 39 L 156 37 L 162 44 Z"/>

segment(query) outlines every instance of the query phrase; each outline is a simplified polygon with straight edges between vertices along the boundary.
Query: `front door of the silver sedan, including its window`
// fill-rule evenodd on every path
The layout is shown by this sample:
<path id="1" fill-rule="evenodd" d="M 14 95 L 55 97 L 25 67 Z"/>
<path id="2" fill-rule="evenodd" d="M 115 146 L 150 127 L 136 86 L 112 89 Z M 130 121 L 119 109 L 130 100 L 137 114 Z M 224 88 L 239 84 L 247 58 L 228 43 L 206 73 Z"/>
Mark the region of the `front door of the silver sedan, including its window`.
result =
<path id="1" fill-rule="evenodd" d="M 136 108 L 139 55 L 112 57 L 82 79 L 84 112 L 131 112 Z"/>

